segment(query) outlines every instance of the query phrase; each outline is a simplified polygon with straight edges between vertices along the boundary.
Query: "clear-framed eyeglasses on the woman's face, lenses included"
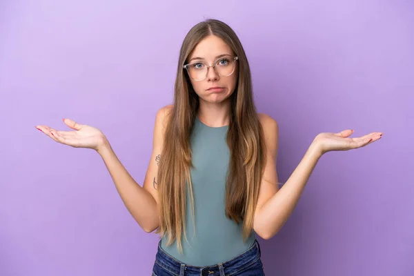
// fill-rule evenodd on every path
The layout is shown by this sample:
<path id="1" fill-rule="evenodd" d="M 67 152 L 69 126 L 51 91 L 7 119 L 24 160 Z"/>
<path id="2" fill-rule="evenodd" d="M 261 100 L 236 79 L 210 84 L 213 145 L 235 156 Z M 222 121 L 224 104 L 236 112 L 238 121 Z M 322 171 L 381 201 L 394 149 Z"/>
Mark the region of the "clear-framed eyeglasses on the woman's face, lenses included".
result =
<path id="1" fill-rule="evenodd" d="M 239 57 L 221 57 L 213 64 L 208 65 L 204 62 L 188 63 L 183 66 L 187 69 L 188 75 L 195 81 L 202 81 L 206 79 L 208 68 L 213 67 L 220 77 L 228 77 L 235 72 L 235 63 Z"/>

